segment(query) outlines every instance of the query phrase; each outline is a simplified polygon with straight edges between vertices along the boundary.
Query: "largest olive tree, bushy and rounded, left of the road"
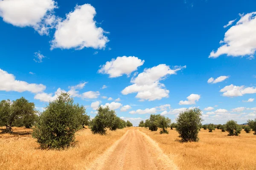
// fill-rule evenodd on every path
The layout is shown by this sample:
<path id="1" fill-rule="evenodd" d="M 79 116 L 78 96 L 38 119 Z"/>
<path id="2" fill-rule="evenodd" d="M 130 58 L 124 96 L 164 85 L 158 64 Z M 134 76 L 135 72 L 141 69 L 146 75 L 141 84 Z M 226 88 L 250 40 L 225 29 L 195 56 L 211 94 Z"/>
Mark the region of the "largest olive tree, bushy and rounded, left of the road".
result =
<path id="1" fill-rule="evenodd" d="M 75 133 L 81 129 L 84 106 L 74 104 L 69 94 L 61 93 L 49 102 L 33 129 L 32 136 L 42 149 L 64 149 L 75 141 Z"/>

